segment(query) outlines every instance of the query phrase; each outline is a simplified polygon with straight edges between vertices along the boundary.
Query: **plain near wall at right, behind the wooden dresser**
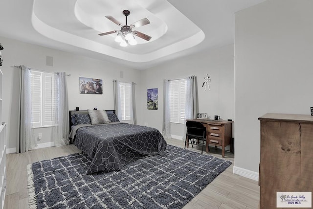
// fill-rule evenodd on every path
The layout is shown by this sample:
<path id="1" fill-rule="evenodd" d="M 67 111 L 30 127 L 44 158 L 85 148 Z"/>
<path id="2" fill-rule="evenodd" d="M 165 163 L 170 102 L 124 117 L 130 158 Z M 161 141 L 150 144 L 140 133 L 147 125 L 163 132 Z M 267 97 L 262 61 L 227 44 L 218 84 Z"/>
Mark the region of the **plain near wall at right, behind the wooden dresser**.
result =
<path id="1" fill-rule="evenodd" d="M 256 174 L 266 113 L 310 114 L 313 1 L 268 0 L 235 14 L 235 167 Z"/>

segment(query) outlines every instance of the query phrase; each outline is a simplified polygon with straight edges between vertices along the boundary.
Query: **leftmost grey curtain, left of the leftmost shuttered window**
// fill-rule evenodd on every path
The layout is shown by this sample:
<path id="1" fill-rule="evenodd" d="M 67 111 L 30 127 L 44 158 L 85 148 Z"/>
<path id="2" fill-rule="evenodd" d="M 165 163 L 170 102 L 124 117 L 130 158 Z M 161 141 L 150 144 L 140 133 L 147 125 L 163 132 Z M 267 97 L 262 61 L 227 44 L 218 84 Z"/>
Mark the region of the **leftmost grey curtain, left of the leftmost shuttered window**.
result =
<path id="1" fill-rule="evenodd" d="M 20 66 L 18 139 L 16 153 L 28 152 L 37 146 L 31 123 L 31 69 Z"/>

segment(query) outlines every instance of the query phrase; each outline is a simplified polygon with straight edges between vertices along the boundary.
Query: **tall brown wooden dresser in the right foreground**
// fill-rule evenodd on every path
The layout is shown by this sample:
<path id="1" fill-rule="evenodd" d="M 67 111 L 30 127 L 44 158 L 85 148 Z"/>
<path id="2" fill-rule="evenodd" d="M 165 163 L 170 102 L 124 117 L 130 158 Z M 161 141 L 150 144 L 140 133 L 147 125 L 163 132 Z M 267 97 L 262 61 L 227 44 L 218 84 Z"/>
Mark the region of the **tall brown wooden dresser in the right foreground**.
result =
<path id="1" fill-rule="evenodd" d="M 260 209 L 276 209 L 276 192 L 313 191 L 313 116 L 259 117 Z"/>

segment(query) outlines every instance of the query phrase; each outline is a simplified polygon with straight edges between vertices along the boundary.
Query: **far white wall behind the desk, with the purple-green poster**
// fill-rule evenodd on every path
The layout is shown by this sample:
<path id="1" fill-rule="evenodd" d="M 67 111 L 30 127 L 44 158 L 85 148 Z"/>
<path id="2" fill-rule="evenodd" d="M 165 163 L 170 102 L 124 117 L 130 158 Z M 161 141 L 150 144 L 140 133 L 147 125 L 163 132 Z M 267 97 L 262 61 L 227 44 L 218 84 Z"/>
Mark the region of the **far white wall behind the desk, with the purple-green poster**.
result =
<path id="1" fill-rule="evenodd" d="M 203 91 L 205 74 L 211 77 L 211 91 Z M 186 78 L 196 75 L 198 81 L 199 112 L 207 113 L 210 118 L 234 119 L 234 45 L 204 51 L 164 63 L 141 73 L 141 95 L 147 89 L 158 88 L 158 110 L 147 109 L 147 98 L 142 98 L 142 123 L 162 131 L 163 80 Z M 183 138 L 182 124 L 171 123 L 171 134 Z"/>

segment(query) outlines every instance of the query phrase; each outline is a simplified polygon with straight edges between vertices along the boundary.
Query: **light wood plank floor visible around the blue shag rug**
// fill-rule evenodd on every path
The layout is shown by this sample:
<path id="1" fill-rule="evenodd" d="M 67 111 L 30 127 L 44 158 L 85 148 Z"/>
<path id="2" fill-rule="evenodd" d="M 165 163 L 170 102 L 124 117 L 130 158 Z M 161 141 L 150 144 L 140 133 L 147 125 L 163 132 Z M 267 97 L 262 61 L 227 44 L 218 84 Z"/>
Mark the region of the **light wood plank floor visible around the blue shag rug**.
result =
<path id="1" fill-rule="evenodd" d="M 184 142 L 168 139 L 168 144 L 184 147 Z M 201 152 L 201 146 L 189 146 Z M 210 147 L 211 155 L 222 158 L 221 149 Z M 7 190 L 4 209 L 28 209 L 27 164 L 80 152 L 73 144 L 48 147 L 22 154 L 7 154 Z M 205 153 L 205 151 L 203 152 Z M 206 154 L 206 153 L 205 153 Z M 226 160 L 234 163 L 234 155 L 225 151 Z M 257 181 L 232 173 L 233 164 L 204 188 L 183 209 L 257 209 L 259 186 Z"/>

